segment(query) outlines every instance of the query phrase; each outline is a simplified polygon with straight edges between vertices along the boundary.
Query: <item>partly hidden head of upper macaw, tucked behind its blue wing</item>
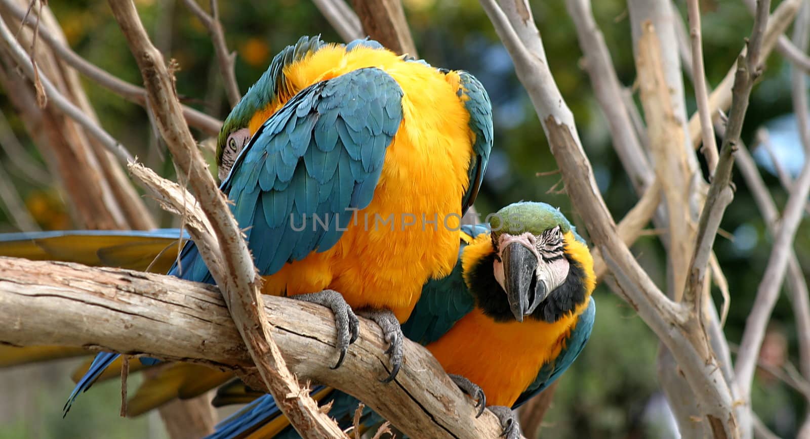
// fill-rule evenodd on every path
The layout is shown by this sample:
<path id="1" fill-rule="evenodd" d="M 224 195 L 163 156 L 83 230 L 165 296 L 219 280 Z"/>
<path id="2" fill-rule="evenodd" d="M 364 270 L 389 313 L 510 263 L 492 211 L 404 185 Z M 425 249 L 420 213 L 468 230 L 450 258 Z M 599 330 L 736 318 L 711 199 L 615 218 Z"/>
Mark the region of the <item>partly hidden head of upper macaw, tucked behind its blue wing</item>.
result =
<path id="1" fill-rule="evenodd" d="M 305 58 L 326 45 L 321 36 L 301 36 L 295 45 L 288 45 L 273 58 L 262 77 L 250 86 L 245 96 L 233 107 L 225 118 L 216 143 L 216 164 L 220 181 L 224 181 L 236 163 L 239 153 L 253 137 L 258 126 L 272 115 L 271 109 L 278 104 L 279 97 L 289 99 L 292 95 L 284 77 L 285 66 Z M 251 123 L 254 118 L 262 119 Z"/>

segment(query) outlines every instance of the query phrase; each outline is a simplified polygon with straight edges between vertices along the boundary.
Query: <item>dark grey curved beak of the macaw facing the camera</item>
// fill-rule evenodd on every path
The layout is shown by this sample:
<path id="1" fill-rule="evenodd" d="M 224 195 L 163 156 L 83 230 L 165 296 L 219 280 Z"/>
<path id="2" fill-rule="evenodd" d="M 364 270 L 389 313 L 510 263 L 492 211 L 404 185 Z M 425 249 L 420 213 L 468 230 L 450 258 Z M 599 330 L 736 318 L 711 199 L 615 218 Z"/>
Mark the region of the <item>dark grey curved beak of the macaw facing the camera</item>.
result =
<path id="1" fill-rule="evenodd" d="M 545 283 L 536 279 L 539 261 L 520 242 L 512 242 L 501 250 L 501 260 L 509 309 L 515 320 L 522 322 L 523 316 L 533 313 L 547 293 Z"/>

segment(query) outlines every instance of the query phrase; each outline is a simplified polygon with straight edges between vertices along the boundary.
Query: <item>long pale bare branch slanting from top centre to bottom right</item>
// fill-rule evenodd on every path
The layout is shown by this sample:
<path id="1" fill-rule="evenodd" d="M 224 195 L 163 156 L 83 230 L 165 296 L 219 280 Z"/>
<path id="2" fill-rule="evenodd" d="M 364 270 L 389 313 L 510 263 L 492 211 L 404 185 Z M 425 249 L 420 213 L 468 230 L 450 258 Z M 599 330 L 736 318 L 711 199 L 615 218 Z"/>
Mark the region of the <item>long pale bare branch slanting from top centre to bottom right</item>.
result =
<path id="1" fill-rule="evenodd" d="M 706 352 L 705 334 L 689 325 L 689 314 L 664 296 L 630 254 L 595 184 L 590 162 L 578 139 L 573 115 L 551 75 L 543 42 L 527 2 L 481 0 L 484 11 L 514 62 L 518 79 L 531 97 L 572 198 L 591 239 L 616 276 L 616 288 L 673 353 L 703 410 L 707 432 L 739 437 L 731 389 L 717 360 Z M 675 329 L 677 328 L 677 329 Z"/>

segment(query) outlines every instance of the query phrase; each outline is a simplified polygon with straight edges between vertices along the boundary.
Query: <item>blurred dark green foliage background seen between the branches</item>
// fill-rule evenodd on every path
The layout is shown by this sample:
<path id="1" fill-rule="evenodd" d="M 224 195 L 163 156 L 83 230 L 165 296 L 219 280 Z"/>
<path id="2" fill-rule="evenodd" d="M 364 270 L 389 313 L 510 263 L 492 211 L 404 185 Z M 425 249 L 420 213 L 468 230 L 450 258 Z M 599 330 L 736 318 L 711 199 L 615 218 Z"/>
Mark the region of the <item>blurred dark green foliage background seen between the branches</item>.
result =
<path id="1" fill-rule="evenodd" d="M 228 103 L 222 92 L 211 41 L 203 25 L 176 0 L 138 0 L 143 22 L 156 45 L 167 58 L 175 58 L 177 88 L 186 104 L 224 117 Z M 202 2 L 207 3 L 207 2 Z M 616 154 L 612 150 L 607 124 L 599 111 L 586 73 L 581 68 L 582 53 L 578 48 L 573 23 L 564 2 L 532 1 L 535 20 L 544 37 L 552 72 L 561 92 L 578 121 L 586 150 L 594 164 L 599 187 L 614 217 L 620 218 L 633 206 L 637 197 L 629 185 Z M 592 2 L 620 80 L 633 84 L 635 68 L 625 2 L 600 0 Z M 777 2 L 774 2 L 777 3 Z M 508 55 L 497 40 L 492 25 L 475 0 L 404 0 L 420 57 L 434 66 L 470 70 L 492 98 L 496 122 L 496 148 L 488 168 L 487 180 L 476 203 L 482 215 L 509 202 L 522 199 L 545 201 L 560 206 L 565 215 L 578 222 L 573 207 L 562 189 L 558 174 L 538 177 L 556 169 L 548 144 L 537 121 L 526 92 L 514 76 Z M 676 2 L 685 16 L 684 2 Z M 70 45 L 96 65 L 132 83 L 140 75 L 106 2 L 88 0 L 50 2 Z M 710 84 L 717 84 L 744 44 L 750 32 L 751 16 L 739 0 L 701 2 L 704 8 L 703 36 L 706 74 Z M 207 4 L 203 5 L 207 7 Z M 301 35 L 321 34 L 325 40 L 339 40 L 326 19 L 307 0 L 262 2 L 220 2 L 221 21 L 229 48 L 236 50 L 237 79 L 245 92 L 262 74 L 272 56 Z M 147 165 L 167 177 L 173 167 L 166 160 L 165 147 L 155 139 L 147 113 L 112 93 L 84 82 L 87 93 L 99 114 L 102 125 L 130 148 Z M 687 105 L 695 109 L 692 88 L 686 80 Z M 0 94 L 0 109 L 11 120 L 15 133 L 30 150 L 34 160 L 41 160 L 15 111 Z M 753 130 L 766 121 L 791 113 L 790 83 L 787 64 L 781 58 L 770 58 L 762 83 L 755 89 L 748 110 L 743 139 L 751 143 Z M 200 137 L 202 139 L 202 137 Z M 2 153 L 0 153 L 2 154 Z M 2 163 L 7 163 L 2 158 Z M 35 219 L 43 228 L 68 228 L 67 209 L 53 184 L 32 185 L 16 173 L 19 193 L 26 200 Z M 786 196 L 774 176 L 763 171 L 779 206 Z M 771 239 L 765 232 L 751 194 L 735 176 L 735 200 L 723 219 L 722 227 L 735 232 L 740 226 L 755 231 L 755 243 L 741 249 L 725 238 L 716 245 L 718 258 L 731 288 L 731 313 L 726 324 L 732 343 L 742 334 L 756 286 L 770 254 Z M 163 225 L 173 219 L 163 215 Z M 0 231 L 13 231 L 11 222 L 0 209 Z M 582 232 L 582 228 L 580 229 Z M 810 244 L 807 224 L 799 229 L 796 251 L 802 262 L 808 261 Z M 642 237 L 633 247 L 653 279 L 664 284 L 664 254 L 655 237 Z M 655 355 L 658 342 L 622 300 L 607 288 L 595 293 L 599 313 L 593 336 L 580 359 L 561 379 L 556 399 L 544 420 L 550 437 L 659 437 L 645 427 L 645 407 L 659 392 L 655 377 Z M 788 300 L 779 300 L 774 321 L 780 322 L 787 336 L 788 359 L 798 359 L 795 327 Z M 35 411 L 21 411 L 14 419 L 0 425 L 0 439 L 8 437 L 143 437 L 147 421 L 117 418 L 119 403 L 117 384 L 95 386 L 75 404 L 65 420 L 59 413 L 71 383 L 64 367 L 49 369 L 48 385 L 29 382 L 26 389 L 34 399 Z M 0 382 L 19 379 L 23 369 L 0 373 Z M 58 384 L 55 384 L 58 383 Z M 777 433 L 784 437 L 795 434 L 795 419 L 804 414 L 799 396 L 781 382 L 755 386 L 757 410 Z M 8 398 L 8 397 L 6 397 Z M 791 418 L 792 416 L 792 418 Z M 790 419 L 793 419 L 792 423 Z M 785 421 L 785 419 L 788 419 Z M 154 428 L 152 429 L 154 430 Z M 154 436 L 152 436 L 154 437 Z M 160 437 L 160 434 L 157 436 Z"/>

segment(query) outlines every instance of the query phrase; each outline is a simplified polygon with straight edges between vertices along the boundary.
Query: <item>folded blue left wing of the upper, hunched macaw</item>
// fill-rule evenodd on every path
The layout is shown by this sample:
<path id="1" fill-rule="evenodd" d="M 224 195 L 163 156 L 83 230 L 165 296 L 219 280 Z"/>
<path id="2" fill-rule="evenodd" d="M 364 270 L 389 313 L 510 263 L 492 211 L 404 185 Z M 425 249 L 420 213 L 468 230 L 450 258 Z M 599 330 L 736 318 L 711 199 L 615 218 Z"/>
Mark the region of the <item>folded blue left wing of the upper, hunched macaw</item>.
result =
<path id="1" fill-rule="evenodd" d="M 313 215 L 330 221 L 368 206 L 402 121 L 402 95 L 384 71 L 355 70 L 305 88 L 254 135 L 222 189 L 237 200 L 237 222 L 252 229 L 248 245 L 262 275 L 335 245 L 342 231 L 313 224 Z M 383 113 L 387 117 L 375 129 L 371 115 Z M 263 215 L 255 214 L 258 209 Z M 290 215 L 306 227 L 290 228 L 284 220 Z M 275 250 L 262 249 L 268 246 Z"/>

